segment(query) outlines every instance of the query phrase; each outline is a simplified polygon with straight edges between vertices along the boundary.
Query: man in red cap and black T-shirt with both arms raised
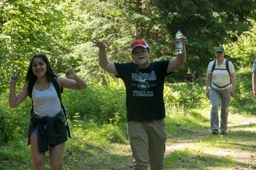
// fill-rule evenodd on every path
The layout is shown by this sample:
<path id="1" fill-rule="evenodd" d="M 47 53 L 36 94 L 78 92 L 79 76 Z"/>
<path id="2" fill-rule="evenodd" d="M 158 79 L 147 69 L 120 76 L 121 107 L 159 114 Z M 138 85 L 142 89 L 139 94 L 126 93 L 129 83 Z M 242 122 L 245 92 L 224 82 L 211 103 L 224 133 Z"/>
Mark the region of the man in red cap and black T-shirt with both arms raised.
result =
<path id="1" fill-rule="evenodd" d="M 183 53 L 175 59 L 149 62 L 147 43 L 137 39 L 131 44 L 134 62 L 114 63 L 107 59 L 107 45 L 94 38 L 99 47 L 99 66 L 117 78 L 122 78 L 126 89 L 127 134 L 132 149 L 134 169 L 163 169 L 166 142 L 164 78 L 184 64 L 187 38 L 182 36 Z"/>

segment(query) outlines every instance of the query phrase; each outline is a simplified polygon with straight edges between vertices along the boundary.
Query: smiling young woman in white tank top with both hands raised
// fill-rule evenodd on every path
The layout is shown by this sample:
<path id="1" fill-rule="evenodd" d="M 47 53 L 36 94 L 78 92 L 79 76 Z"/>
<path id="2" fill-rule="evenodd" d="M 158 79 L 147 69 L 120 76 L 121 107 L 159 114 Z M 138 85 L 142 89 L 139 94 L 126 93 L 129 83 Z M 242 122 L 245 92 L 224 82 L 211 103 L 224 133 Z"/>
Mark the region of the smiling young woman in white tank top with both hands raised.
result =
<path id="1" fill-rule="evenodd" d="M 11 77 L 10 108 L 19 106 L 28 96 L 33 100 L 34 106 L 31 110 L 28 131 L 28 145 L 31 143 L 33 169 L 44 169 L 45 152 L 48 148 L 51 169 L 65 169 L 63 155 L 65 141 L 68 139 L 68 128 L 54 84 L 56 85 L 57 82 L 61 90 L 63 87 L 82 90 L 86 89 L 87 85 L 72 69 L 62 71 L 67 78 L 54 74 L 46 55 L 38 54 L 32 58 L 26 74 L 26 83 L 17 95 L 15 86 L 19 81 L 20 73 Z"/>

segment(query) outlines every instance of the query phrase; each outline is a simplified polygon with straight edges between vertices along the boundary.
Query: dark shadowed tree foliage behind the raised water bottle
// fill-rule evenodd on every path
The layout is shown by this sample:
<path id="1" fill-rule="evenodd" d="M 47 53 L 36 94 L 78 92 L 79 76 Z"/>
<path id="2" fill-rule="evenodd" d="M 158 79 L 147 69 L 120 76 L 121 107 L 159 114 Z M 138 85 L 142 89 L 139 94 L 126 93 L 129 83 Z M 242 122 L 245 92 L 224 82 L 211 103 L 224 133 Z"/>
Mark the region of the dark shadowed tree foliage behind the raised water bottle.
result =
<path id="1" fill-rule="evenodd" d="M 255 19 L 255 3 L 240 1 L 154 1 L 158 4 L 159 20 L 170 39 L 174 39 L 177 29 L 188 38 L 187 60 L 179 69 L 181 80 L 196 80 L 214 58 L 214 49 L 237 40 L 242 32 L 248 30 Z M 236 34 L 234 34 L 235 32 Z M 163 39 L 163 38 L 162 38 Z M 174 45 L 170 47 L 173 49 Z M 171 50 L 173 51 L 173 50 Z M 186 76 L 186 74 L 188 74 Z"/>

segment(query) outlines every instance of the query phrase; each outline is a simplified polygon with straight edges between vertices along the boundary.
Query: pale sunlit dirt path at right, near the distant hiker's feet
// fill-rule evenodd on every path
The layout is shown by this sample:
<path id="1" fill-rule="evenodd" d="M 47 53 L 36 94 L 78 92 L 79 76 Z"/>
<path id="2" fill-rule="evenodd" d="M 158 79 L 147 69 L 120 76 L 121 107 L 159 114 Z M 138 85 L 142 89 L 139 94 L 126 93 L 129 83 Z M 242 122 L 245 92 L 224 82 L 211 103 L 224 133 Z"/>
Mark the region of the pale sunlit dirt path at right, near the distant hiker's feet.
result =
<path id="1" fill-rule="evenodd" d="M 256 120 L 248 120 L 246 122 L 242 122 L 239 124 L 229 125 L 228 133 L 231 136 L 232 134 L 236 134 L 237 132 L 240 132 L 240 131 L 247 131 L 247 132 L 252 131 L 252 136 L 248 140 L 255 141 L 256 139 L 255 124 L 256 124 Z M 188 138 L 184 137 L 184 135 L 188 136 Z M 191 136 L 193 136 L 193 139 L 191 139 Z M 212 136 L 210 130 L 200 131 L 200 132 L 192 132 L 192 131 L 184 132 L 182 136 L 175 139 L 175 141 L 180 141 L 180 142 L 176 142 L 169 146 L 166 146 L 166 153 L 164 155 L 165 157 L 167 157 L 175 150 L 185 150 L 186 148 L 193 148 L 193 146 L 196 143 L 198 143 L 200 139 L 204 139 L 205 137 L 207 138 L 209 136 Z M 204 151 L 204 154 L 214 155 L 214 157 L 219 157 L 219 158 L 231 157 L 232 160 L 237 162 L 237 165 L 238 165 L 238 166 L 236 165 L 236 167 L 232 167 L 231 169 L 248 169 L 248 170 L 256 169 L 256 154 L 255 154 L 256 144 L 254 143 L 254 146 L 252 145 L 246 146 L 246 139 L 241 139 L 241 141 L 237 141 L 236 142 L 237 145 L 232 148 L 225 148 L 225 149 L 218 148 L 214 151 L 209 150 L 209 152 L 207 152 L 206 150 Z M 245 149 L 243 149 L 243 146 Z M 236 149 L 236 147 L 239 149 Z M 246 167 L 241 167 L 239 166 L 239 164 Z M 219 169 L 219 167 L 216 167 L 216 168 L 212 167 L 211 169 Z"/>

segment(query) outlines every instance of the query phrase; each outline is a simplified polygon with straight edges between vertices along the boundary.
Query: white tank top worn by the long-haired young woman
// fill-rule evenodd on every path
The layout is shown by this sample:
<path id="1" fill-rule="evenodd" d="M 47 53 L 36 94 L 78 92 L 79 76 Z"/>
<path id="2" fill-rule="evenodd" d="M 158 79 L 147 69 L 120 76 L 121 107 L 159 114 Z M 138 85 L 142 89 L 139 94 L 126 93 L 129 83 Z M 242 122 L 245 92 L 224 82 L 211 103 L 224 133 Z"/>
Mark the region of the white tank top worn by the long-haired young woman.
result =
<path id="1" fill-rule="evenodd" d="M 34 112 L 39 117 L 54 117 L 61 111 L 60 98 L 53 86 L 44 91 L 38 91 L 33 87 L 32 99 L 34 103 Z"/>

